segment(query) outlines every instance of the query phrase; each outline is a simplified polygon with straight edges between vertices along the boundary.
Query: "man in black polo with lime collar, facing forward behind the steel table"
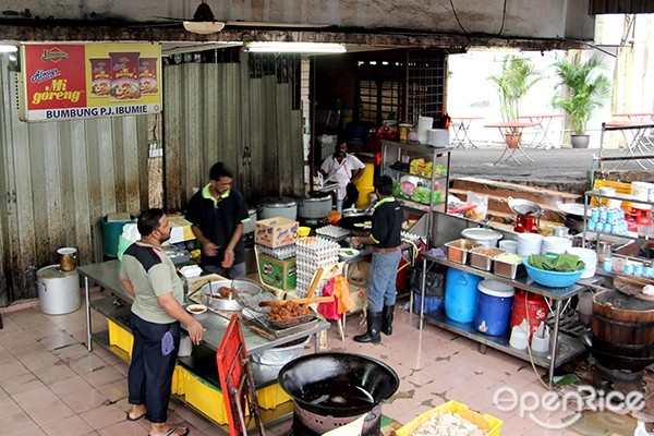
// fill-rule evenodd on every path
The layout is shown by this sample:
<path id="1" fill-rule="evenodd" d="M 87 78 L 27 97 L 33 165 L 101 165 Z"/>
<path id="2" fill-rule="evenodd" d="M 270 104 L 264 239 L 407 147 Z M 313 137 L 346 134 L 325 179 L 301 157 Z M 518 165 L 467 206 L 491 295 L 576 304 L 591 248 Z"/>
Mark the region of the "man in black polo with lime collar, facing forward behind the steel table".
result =
<path id="1" fill-rule="evenodd" d="M 232 187 L 233 173 L 222 162 L 209 170 L 209 183 L 189 202 L 185 218 L 202 245 L 203 269 L 230 279 L 246 277 L 243 222 L 245 198 Z"/>

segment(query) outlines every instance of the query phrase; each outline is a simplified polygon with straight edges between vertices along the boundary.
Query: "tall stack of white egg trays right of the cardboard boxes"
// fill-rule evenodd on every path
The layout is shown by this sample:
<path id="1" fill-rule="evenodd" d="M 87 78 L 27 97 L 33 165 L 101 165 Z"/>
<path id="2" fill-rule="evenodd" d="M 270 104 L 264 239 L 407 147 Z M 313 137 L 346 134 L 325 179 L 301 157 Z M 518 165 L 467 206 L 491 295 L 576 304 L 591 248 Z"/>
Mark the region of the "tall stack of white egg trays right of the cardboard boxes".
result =
<path id="1" fill-rule="evenodd" d="M 327 238 L 302 238 L 296 244 L 298 282 L 295 290 L 299 296 L 305 296 L 311 288 L 313 277 L 318 268 L 329 269 L 338 263 L 340 245 Z M 323 295 L 327 279 L 318 281 L 314 296 Z"/>

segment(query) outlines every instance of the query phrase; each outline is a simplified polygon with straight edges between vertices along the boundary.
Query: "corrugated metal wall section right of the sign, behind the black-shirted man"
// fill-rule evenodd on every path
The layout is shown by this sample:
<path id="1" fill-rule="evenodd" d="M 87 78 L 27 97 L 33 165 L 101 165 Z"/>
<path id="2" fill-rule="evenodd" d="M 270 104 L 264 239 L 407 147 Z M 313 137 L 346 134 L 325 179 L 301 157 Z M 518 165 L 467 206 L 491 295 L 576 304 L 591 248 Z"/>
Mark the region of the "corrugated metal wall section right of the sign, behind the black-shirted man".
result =
<path id="1" fill-rule="evenodd" d="M 245 52 L 239 63 L 183 63 L 164 73 L 169 210 L 184 210 L 219 160 L 252 205 L 303 192 L 302 110 L 292 105 L 292 81 L 253 76 Z"/>

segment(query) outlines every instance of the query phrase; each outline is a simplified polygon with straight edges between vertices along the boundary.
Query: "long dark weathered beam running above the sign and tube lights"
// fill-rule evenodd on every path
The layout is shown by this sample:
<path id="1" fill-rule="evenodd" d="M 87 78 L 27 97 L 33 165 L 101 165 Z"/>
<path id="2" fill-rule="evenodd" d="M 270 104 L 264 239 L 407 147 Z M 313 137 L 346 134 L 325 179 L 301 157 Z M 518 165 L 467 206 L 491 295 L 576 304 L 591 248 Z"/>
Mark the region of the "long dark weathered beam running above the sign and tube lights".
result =
<path id="1" fill-rule="evenodd" d="M 211 35 L 198 35 L 179 25 L 167 23 L 116 23 L 102 25 L 89 22 L 61 22 L 36 20 L 0 20 L 0 41 L 314 41 L 359 44 L 385 48 L 443 48 L 450 52 L 465 51 L 470 47 L 513 48 L 523 50 L 567 50 L 583 48 L 584 43 L 567 39 L 529 39 L 497 37 L 494 35 L 456 35 L 407 32 L 405 29 L 280 29 L 226 27 Z"/>

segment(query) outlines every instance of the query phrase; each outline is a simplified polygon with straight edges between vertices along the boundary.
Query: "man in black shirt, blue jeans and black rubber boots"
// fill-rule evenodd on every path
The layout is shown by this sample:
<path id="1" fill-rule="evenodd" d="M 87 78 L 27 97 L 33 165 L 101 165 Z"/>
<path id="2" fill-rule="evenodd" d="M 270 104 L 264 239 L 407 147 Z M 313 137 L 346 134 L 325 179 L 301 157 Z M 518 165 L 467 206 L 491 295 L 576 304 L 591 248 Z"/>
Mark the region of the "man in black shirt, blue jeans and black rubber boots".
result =
<path id="1" fill-rule="evenodd" d="M 392 197 L 391 178 L 382 175 L 375 180 L 374 185 L 378 202 L 374 206 L 373 230 L 370 237 L 352 238 L 352 244 L 374 245 L 367 289 L 367 331 L 355 336 L 354 340 L 377 343 L 382 340 L 379 330 L 388 336 L 392 334 L 396 278 L 402 257 L 400 245 L 404 214 L 402 205 Z"/>

